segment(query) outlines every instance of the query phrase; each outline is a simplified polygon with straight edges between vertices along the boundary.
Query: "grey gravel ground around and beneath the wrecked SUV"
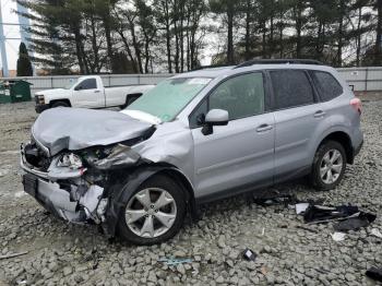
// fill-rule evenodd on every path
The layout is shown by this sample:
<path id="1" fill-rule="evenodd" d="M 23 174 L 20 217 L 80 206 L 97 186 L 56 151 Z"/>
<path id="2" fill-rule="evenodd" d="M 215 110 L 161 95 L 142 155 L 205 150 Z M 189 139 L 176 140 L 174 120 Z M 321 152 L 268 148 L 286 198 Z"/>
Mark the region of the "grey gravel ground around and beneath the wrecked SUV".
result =
<path id="1" fill-rule="evenodd" d="M 242 195 L 203 206 L 200 222 L 153 247 L 108 241 L 95 226 L 56 219 L 24 194 L 17 148 L 36 115 L 33 103 L 0 105 L 0 255 L 28 251 L 0 259 L 0 285 L 375 285 L 365 271 L 382 267 L 382 239 L 370 235 L 372 227 L 382 233 L 382 96 L 361 97 L 365 147 L 343 183 L 330 192 L 303 182 L 272 191 L 361 206 L 378 214 L 371 226 L 335 242 L 331 224 L 308 231 L 294 210 Z M 241 258 L 247 247 L 258 253 L 255 262 Z M 168 266 L 158 261 L 165 257 L 192 262 Z"/>

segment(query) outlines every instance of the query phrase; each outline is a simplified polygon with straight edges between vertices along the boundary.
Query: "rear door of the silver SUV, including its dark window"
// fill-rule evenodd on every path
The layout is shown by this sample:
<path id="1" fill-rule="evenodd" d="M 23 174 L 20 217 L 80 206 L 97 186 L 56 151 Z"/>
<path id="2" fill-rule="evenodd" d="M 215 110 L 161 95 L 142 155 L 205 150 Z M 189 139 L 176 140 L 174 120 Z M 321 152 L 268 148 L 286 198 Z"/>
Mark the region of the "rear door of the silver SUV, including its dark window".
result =
<path id="1" fill-rule="evenodd" d="M 311 146 L 325 120 L 323 106 L 305 70 L 270 71 L 275 116 L 275 182 L 310 171 Z"/>

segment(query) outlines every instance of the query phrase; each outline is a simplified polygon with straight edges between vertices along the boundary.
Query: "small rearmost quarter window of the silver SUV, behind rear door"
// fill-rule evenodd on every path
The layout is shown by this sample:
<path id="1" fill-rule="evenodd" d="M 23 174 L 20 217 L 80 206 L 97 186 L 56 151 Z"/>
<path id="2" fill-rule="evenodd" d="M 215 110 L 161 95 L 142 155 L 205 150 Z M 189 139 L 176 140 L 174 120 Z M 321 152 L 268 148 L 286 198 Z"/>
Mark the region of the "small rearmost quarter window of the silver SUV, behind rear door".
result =
<path id="1" fill-rule="evenodd" d="M 332 100 L 343 94 L 343 87 L 329 72 L 312 71 L 312 74 L 322 102 Z"/>

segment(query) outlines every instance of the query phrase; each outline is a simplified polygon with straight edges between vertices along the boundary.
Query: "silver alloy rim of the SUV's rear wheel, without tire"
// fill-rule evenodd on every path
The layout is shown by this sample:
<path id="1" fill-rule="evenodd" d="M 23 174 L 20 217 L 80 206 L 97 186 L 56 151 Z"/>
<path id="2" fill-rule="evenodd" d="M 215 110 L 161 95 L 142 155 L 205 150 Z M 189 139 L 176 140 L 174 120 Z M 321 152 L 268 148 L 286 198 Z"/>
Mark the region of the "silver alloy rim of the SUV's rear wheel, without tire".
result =
<path id="1" fill-rule="evenodd" d="M 343 155 L 338 150 L 330 150 L 322 157 L 320 176 L 324 183 L 331 184 L 338 180 L 343 170 Z"/>

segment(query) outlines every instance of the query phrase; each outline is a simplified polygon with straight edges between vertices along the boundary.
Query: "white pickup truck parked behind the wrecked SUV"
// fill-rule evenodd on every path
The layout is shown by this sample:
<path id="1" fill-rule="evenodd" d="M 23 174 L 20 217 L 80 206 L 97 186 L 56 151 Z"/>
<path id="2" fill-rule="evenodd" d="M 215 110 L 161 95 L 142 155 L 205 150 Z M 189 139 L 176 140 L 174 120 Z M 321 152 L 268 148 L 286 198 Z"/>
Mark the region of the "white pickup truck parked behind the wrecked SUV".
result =
<path id="1" fill-rule="evenodd" d="M 65 88 L 55 88 L 35 94 L 36 112 L 52 107 L 124 108 L 154 85 L 105 87 L 98 75 L 81 76 Z"/>

